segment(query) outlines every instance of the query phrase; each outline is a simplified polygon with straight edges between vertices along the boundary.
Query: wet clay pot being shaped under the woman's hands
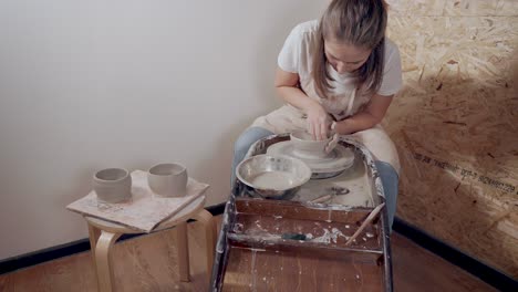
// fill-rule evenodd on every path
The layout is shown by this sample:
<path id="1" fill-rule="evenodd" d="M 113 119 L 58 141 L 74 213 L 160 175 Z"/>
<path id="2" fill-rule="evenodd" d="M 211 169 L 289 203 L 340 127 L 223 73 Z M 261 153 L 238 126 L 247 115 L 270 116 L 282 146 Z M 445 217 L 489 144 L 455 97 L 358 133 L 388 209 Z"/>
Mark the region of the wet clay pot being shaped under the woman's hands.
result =
<path id="1" fill-rule="evenodd" d="M 330 145 L 333 136 L 323 140 L 314 140 L 313 136 L 305 131 L 296 131 L 290 134 L 291 143 L 294 147 L 294 154 L 303 158 L 323 158 L 329 152 L 325 152 L 325 146 Z M 336 145 L 330 145 L 336 146 Z"/>

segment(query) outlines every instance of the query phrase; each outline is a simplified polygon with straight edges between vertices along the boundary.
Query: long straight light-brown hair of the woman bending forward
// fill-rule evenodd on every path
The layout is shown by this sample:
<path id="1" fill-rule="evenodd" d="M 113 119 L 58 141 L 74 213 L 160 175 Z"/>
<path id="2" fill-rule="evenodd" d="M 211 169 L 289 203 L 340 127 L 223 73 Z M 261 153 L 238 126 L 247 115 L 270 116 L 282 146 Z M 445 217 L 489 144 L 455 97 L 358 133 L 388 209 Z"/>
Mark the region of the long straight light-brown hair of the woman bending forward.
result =
<path id="1" fill-rule="evenodd" d="M 386 6 L 383 0 L 333 0 L 320 19 L 317 52 L 313 54 L 314 87 L 325 98 L 334 81 L 328 72 L 324 41 L 372 50 L 365 63 L 353 72 L 356 87 L 375 93 L 382 83 L 385 53 Z"/>

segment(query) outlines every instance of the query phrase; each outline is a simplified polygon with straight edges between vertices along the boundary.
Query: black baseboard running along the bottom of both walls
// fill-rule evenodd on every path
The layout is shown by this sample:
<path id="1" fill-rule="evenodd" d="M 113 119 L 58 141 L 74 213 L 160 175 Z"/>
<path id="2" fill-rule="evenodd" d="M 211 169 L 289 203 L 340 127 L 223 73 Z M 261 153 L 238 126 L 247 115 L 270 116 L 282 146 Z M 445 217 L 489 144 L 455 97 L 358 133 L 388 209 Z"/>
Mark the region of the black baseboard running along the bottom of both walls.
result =
<path id="1" fill-rule="evenodd" d="M 206 208 L 214 216 L 221 215 L 225 211 L 225 202 Z M 400 218 L 395 218 L 393 230 L 422 248 L 429 250 L 446 261 L 464 269 L 481 281 L 493 285 L 499 291 L 518 291 L 518 282 L 511 277 L 480 262 L 466 253 L 444 243 L 443 241 L 427 234 L 415 226 L 412 226 Z M 124 234 L 118 241 L 139 237 L 142 234 Z M 0 261 L 0 274 L 13 272 L 20 269 L 29 268 L 46 261 L 68 257 L 74 253 L 90 250 L 87 238 L 72 241 L 65 244 L 51 247 L 48 249 L 21 254 Z"/>

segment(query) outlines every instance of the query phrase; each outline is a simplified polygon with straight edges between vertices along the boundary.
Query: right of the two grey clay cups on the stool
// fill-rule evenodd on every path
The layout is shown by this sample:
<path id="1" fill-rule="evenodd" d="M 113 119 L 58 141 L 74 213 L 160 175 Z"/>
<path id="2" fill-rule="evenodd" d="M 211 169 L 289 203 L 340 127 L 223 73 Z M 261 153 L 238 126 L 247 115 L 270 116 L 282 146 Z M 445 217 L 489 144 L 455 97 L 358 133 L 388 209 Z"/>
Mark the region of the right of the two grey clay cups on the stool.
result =
<path id="1" fill-rule="evenodd" d="M 162 197 L 185 196 L 187 179 L 187 168 L 179 164 L 158 164 L 147 173 L 149 188 Z"/>

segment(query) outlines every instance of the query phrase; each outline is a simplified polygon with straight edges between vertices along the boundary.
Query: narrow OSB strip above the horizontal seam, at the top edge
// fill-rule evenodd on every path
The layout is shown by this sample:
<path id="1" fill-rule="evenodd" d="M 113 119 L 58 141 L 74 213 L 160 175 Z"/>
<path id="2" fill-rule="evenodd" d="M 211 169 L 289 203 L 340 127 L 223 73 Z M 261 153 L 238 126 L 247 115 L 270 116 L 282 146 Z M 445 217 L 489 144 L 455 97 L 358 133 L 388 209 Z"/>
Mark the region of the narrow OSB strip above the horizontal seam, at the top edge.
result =
<path id="1" fill-rule="evenodd" d="M 391 13 L 425 17 L 518 15 L 516 0 L 386 0 Z"/>

